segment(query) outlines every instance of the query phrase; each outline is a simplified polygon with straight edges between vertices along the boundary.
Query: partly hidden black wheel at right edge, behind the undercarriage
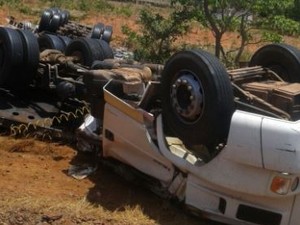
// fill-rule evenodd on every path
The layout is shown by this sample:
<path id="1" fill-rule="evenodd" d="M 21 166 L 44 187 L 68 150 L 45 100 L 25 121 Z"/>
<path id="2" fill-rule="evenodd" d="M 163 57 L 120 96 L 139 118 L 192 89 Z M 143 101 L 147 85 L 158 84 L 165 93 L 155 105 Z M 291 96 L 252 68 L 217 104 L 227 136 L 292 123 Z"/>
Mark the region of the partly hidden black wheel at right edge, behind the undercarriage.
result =
<path id="1" fill-rule="evenodd" d="M 258 49 L 249 66 L 267 67 L 285 81 L 300 82 L 300 50 L 287 44 L 270 44 Z"/>

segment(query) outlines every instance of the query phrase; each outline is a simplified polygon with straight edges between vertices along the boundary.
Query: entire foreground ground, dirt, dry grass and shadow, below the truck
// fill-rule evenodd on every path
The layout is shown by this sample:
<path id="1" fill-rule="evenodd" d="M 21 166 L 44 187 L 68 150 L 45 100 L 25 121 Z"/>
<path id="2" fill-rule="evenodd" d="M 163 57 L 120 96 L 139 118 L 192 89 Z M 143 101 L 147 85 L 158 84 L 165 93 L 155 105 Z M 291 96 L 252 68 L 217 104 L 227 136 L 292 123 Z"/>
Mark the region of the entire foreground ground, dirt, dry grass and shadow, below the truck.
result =
<path id="1" fill-rule="evenodd" d="M 211 224 L 100 164 L 86 179 L 68 175 L 90 157 L 59 143 L 0 136 L 0 224 Z"/>

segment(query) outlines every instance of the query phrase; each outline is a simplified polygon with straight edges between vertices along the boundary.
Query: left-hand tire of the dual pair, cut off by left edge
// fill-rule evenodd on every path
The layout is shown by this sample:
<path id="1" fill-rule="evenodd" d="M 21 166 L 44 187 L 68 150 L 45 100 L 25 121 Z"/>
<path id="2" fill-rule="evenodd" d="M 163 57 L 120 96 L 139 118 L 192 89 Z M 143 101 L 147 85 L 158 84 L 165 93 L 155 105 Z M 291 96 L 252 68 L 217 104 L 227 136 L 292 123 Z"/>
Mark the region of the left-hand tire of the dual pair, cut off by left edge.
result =
<path id="1" fill-rule="evenodd" d="M 22 83 L 23 42 L 20 34 L 11 28 L 0 27 L 0 85 L 17 87 Z"/>

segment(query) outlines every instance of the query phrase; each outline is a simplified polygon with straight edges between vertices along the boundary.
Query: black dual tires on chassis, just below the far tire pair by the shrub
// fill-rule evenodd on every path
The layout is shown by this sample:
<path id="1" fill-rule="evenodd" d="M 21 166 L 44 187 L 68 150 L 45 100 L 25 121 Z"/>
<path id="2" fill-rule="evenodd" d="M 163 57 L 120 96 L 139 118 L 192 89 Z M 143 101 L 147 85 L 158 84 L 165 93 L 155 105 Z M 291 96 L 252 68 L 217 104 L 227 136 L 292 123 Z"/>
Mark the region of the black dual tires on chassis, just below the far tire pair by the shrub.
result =
<path id="1" fill-rule="evenodd" d="M 95 60 L 104 59 L 98 40 L 91 38 L 73 40 L 67 46 L 65 54 L 67 56 L 78 56 L 79 62 L 85 66 L 91 66 Z"/>

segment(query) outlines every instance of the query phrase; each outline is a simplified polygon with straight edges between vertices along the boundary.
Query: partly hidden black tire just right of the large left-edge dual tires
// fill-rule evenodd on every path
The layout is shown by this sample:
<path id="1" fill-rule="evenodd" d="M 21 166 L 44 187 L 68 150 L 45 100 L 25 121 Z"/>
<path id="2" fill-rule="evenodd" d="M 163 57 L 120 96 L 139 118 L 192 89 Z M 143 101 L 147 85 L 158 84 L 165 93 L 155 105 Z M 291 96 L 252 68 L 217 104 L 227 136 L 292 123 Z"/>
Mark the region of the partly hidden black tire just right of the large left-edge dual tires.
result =
<path id="1" fill-rule="evenodd" d="M 53 34 L 42 34 L 38 38 L 38 43 L 41 52 L 45 49 L 56 49 L 61 52 L 64 52 L 66 49 L 64 41 Z"/>

